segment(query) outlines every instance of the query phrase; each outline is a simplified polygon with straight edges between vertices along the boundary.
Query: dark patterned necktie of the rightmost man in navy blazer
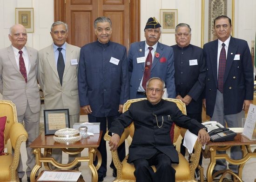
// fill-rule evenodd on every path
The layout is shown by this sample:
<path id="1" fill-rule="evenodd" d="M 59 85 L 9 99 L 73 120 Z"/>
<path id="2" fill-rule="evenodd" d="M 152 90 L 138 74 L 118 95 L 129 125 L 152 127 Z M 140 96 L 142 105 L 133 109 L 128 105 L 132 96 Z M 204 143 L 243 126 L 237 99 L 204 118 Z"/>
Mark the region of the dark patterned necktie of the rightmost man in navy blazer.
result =
<path id="1" fill-rule="evenodd" d="M 218 90 L 223 93 L 223 81 L 226 68 L 226 50 L 225 44 L 222 44 L 222 50 L 219 59 L 219 72 L 218 72 Z"/>

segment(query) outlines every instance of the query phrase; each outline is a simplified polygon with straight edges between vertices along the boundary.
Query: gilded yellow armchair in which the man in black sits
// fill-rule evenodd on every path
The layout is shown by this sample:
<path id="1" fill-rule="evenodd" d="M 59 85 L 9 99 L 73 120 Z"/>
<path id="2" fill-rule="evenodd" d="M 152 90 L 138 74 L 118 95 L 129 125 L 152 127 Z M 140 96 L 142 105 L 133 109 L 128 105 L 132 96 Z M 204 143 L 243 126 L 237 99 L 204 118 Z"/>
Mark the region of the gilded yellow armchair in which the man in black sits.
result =
<path id="1" fill-rule="evenodd" d="M 137 102 L 140 100 L 144 100 L 144 99 L 128 100 L 124 104 L 123 112 L 128 110 L 128 107 L 131 105 L 131 103 Z M 164 99 L 164 100 L 175 102 L 179 107 L 179 109 L 182 111 L 182 113 L 186 114 L 186 106 L 181 100 L 177 100 L 177 99 Z M 174 130 L 175 130 L 175 134 L 174 134 L 174 143 L 175 143 L 180 133 L 183 133 L 183 134 L 185 133 L 184 131 L 185 129 L 179 128 L 178 126 L 175 125 Z M 129 127 L 125 128 L 123 134 L 121 135 L 119 144 L 124 142 L 124 140 L 127 138 L 133 138 L 133 134 L 134 134 L 134 125 L 131 124 Z M 107 133 L 104 136 L 104 140 L 109 141 L 110 138 L 111 137 L 108 135 L 108 131 L 107 131 Z M 201 149 L 202 149 L 202 144 L 200 142 L 197 142 L 195 144 L 195 152 L 192 154 L 190 163 L 185 159 L 185 157 L 182 156 L 180 152 L 178 152 L 180 163 L 172 164 L 173 168 L 176 170 L 176 174 L 175 174 L 176 182 L 196 182 L 195 169 L 199 163 Z M 136 179 L 134 176 L 134 171 L 135 171 L 134 164 L 127 163 L 128 155 L 124 158 L 123 161 L 120 161 L 117 154 L 117 150 L 114 152 L 111 151 L 113 162 L 117 169 L 117 176 L 114 182 L 135 182 Z M 155 166 L 152 166 L 152 168 L 156 171 Z"/>

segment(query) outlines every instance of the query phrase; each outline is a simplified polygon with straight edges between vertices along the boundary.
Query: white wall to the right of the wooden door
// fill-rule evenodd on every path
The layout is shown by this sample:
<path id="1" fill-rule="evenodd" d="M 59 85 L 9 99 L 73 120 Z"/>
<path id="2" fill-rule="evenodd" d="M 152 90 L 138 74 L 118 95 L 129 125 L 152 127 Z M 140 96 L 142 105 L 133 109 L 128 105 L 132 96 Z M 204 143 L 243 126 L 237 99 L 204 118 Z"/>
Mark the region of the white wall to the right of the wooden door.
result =
<path id="1" fill-rule="evenodd" d="M 178 24 L 189 24 L 192 29 L 190 43 L 201 47 L 201 6 L 202 0 L 141 0 L 141 41 L 145 40 L 143 30 L 149 17 L 155 16 L 160 21 L 160 9 L 178 9 Z M 235 0 L 234 37 L 246 40 L 250 50 L 256 34 L 255 10 L 256 0 Z M 159 42 L 174 45 L 175 34 L 162 33 Z"/>

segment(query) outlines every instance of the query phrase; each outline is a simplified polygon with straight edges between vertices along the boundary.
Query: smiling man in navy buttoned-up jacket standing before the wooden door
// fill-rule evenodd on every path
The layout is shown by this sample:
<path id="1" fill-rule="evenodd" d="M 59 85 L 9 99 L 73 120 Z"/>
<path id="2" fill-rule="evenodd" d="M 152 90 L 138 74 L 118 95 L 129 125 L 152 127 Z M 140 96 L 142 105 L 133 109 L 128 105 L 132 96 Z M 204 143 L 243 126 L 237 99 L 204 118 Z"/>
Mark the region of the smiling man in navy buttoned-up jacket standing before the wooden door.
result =
<path id="1" fill-rule="evenodd" d="M 103 139 L 112 121 L 122 113 L 123 104 L 129 99 L 129 77 L 126 47 L 110 41 L 111 20 L 99 17 L 94 21 L 97 41 L 81 47 L 78 67 L 78 93 L 82 110 L 89 122 L 100 122 L 103 131 L 98 150 L 102 163 L 98 169 L 98 181 L 107 172 L 106 141 Z M 121 160 L 125 157 L 125 144 L 118 147 Z M 95 164 L 95 163 L 94 163 Z M 110 164 L 116 176 L 114 163 Z"/>

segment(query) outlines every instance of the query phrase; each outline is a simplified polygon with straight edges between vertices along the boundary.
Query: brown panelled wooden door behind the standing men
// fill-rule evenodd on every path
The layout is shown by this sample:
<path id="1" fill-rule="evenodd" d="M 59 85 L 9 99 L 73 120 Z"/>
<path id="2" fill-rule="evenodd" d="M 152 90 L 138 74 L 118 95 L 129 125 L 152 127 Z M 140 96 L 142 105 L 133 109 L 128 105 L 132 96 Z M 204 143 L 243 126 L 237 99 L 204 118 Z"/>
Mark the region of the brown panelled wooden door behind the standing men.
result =
<path id="1" fill-rule="evenodd" d="M 54 21 L 68 25 L 67 42 L 76 46 L 94 42 L 94 20 L 106 16 L 112 21 L 111 41 L 127 50 L 140 40 L 140 0 L 54 0 Z"/>

